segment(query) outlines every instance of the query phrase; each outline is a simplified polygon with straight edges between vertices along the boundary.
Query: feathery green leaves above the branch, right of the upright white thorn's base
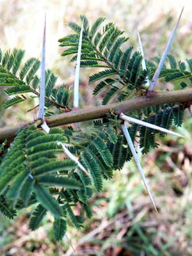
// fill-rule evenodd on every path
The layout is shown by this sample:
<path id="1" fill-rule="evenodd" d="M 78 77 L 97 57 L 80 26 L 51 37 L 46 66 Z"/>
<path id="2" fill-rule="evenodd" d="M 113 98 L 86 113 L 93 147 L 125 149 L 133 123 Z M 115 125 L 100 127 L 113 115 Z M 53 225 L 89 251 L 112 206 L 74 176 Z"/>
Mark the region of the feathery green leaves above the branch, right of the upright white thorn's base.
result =
<path id="1" fill-rule="evenodd" d="M 81 17 L 81 19 L 85 19 L 85 17 Z M 100 29 L 102 22 L 104 19 L 99 18 L 93 23 L 93 26 L 90 26 L 86 19 L 81 67 L 104 68 L 90 76 L 89 82 L 90 84 L 99 82 L 93 90 L 93 95 L 102 92 L 104 95 L 102 104 L 105 105 L 114 99 L 118 101 L 129 99 L 134 90 L 136 93 L 138 91 L 143 93 L 143 90 L 146 90 L 146 77 L 148 75 L 150 79 L 152 78 L 160 58 L 156 56 L 154 62 L 148 61 L 147 70 L 142 70 L 140 52 L 132 53 L 132 46 L 122 51 L 122 45 L 124 43 L 127 45 L 129 39 L 122 36 L 124 31 L 120 31 L 111 22 Z M 70 22 L 69 26 L 75 33 L 61 38 L 59 42 L 61 47 L 68 47 L 63 51 L 62 56 L 74 54 L 71 61 L 76 61 L 81 26 L 74 22 Z M 176 61 L 172 54 L 169 54 L 167 59 L 170 67 L 167 68 L 164 65 L 159 77 L 164 77 L 166 83 L 179 81 L 181 84 L 188 81 L 191 84 L 191 60 L 186 60 L 189 67 L 189 71 L 187 71 L 186 64 Z"/>

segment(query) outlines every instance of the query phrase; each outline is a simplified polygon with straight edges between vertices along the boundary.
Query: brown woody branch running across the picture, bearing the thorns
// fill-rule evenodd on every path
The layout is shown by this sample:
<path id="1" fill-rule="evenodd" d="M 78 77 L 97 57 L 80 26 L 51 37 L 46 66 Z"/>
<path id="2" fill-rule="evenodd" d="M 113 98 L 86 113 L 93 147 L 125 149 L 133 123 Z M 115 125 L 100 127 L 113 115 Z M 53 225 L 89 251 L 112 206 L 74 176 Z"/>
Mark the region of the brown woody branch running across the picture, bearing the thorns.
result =
<path id="1" fill-rule="evenodd" d="M 46 118 L 45 121 L 49 127 L 56 127 L 60 125 L 73 124 L 102 118 L 104 115 L 106 115 L 106 113 L 111 111 L 113 111 L 116 115 L 120 115 L 120 113 L 130 113 L 136 109 L 148 108 L 150 106 L 172 102 L 192 102 L 192 89 L 176 90 L 173 92 L 157 92 L 150 96 L 146 95 L 131 100 L 125 100 L 123 102 L 108 104 L 106 106 L 79 109 L 76 111 L 62 113 L 60 115 L 54 115 Z M 0 128 L 0 141 L 15 137 L 15 133 L 20 128 L 26 127 L 29 124 L 33 124 L 34 122 L 35 121 L 19 124 L 15 125 L 14 127 L 6 126 Z"/>

